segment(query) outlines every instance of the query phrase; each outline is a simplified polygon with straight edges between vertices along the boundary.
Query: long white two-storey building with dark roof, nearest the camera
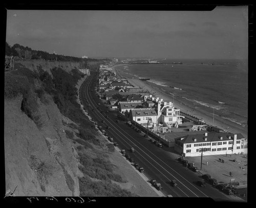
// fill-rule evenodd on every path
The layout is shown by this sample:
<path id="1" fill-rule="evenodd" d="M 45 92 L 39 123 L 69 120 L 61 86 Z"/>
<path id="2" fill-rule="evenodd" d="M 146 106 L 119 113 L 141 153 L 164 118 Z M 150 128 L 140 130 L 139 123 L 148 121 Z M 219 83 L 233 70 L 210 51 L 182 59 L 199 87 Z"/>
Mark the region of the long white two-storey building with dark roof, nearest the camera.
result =
<path id="1" fill-rule="evenodd" d="M 184 157 L 212 154 L 247 153 L 247 140 L 242 134 L 204 133 L 175 139 L 174 149 Z"/>

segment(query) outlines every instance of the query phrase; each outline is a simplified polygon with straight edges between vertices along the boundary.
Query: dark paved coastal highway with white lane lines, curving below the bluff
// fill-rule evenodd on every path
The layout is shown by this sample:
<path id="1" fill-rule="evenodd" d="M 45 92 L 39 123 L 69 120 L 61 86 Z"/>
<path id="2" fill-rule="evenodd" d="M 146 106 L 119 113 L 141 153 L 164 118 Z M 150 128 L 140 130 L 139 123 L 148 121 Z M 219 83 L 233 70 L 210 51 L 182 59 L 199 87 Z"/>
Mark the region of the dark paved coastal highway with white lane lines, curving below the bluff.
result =
<path id="1" fill-rule="evenodd" d="M 108 113 L 109 118 L 104 115 L 106 108 L 100 103 L 99 98 L 94 92 L 95 84 L 97 83 L 96 74 L 88 76 L 80 87 L 80 99 L 83 106 L 90 105 L 89 113 L 91 117 L 98 122 L 103 128 L 106 125 L 110 129 L 105 129 L 110 136 L 114 138 L 119 144 L 121 149 L 126 152 L 139 163 L 145 170 L 145 175 L 150 179 L 156 179 L 163 187 L 165 195 L 171 194 L 174 197 L 210 197 L 214 200 L 232 200 L 234 196 L 227 196 L 217 189 L 206 184 L 205 187 L 196 185 L 196 181 L 200 180 L 200 174 L 194 173 L 183 167 L 177 160 L 170 158 L 168 151 L 151 144 L 148 139 L 138 134 L 131 127 L 127 126 L 124 122 L 116 122 L 117 118 L 114 113 Z M 98 107 L 100 109 L 98 109 Z M 92 109 L 94 109 L 92 111 Z M 100 112 L 104 111 L 104 115 Z M 104 123 L 101 121 L 104 120 Z M 128 150 L 134 147 L 135 152 L 131 153 Z M 178 187 L 172 187 L 170 180 L 175 179 Z"/>

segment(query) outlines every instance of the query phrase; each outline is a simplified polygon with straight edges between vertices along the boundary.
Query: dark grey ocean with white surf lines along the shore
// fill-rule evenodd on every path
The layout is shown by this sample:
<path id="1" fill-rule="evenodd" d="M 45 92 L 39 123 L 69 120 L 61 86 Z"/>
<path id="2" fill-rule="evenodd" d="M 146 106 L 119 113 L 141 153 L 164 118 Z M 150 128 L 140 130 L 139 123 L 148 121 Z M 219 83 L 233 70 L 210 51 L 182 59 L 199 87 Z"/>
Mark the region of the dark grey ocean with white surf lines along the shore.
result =
<path id="1" fill-rule="evenodd" d="M 173 62 L 182 64 L 172 64 Z M 117 67 L 129 78 L 148 78 L 190 106 L 247 126 L 248 66 L 237 60 L 164 60 Z"/>

